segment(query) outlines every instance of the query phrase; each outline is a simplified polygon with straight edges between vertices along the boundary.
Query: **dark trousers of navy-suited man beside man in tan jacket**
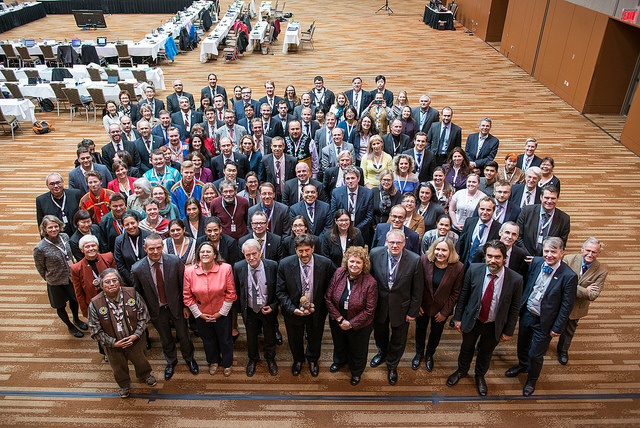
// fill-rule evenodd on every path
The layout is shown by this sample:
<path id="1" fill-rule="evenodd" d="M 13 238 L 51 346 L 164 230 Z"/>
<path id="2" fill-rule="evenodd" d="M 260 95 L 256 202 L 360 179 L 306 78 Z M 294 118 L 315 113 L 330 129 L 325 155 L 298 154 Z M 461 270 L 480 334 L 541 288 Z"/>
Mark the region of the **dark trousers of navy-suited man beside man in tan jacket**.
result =
<path id="1" fill-rule="evenodd" d="M 551 335 L 542 331 L 540 317 L 525 310 L 518 327 L 518 364 L 529 369 L 528 379 L 537 381 Z"/>

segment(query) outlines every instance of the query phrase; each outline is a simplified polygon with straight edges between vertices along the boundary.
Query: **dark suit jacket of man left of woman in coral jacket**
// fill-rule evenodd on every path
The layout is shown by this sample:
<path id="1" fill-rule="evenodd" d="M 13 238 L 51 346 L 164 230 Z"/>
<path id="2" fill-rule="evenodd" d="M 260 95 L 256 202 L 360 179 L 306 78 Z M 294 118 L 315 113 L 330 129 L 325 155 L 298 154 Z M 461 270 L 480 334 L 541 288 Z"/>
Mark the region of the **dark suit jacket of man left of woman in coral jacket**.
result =
<path id="1" fill-rule="evenodd" d="M 133 265 L 131 276 L 135 289 L 142 295 L 147 304 L 151 321 L 157 321 L 160 313 L 160 303 L 156 284 L 151 276 L 149 257 L 144 257 Z M 184 316 L 182 309 L 185 307 L 182 297 L 184 265 L 178 256 L 162 254 L 162 276 L 164 278 L 164 292 L 169 311 L 175 318 L 180 319 Z"/>

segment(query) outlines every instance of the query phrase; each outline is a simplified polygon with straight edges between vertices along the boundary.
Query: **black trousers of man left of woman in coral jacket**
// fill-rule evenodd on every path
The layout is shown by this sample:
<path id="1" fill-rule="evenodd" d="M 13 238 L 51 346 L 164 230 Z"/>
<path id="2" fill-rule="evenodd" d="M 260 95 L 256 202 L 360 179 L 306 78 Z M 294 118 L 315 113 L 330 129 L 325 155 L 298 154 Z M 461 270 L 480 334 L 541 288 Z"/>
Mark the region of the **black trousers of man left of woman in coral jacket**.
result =
<path id="1" fill-rule="evenodd" d="M 184 358 L 185 361 L 193 360 L 193 342 L 191 342 L 191 336 L 189 335 L 187 320 L 183 316 L 179 318 L 174 317 L 169 306 L 165 305 L 160 307 L 158 318 L 152 319 L 151 323 L 160 335 L 162 352 L 164 352 L 164 358 L 167 360 L 167 364 L 175 365 L 178 362 L 176 341 L 173 339 L 173 334 L 171 334 L 172 322 L 176 329 L 176 337 L 178 342 L 180 342 L 182 358 Z"/>

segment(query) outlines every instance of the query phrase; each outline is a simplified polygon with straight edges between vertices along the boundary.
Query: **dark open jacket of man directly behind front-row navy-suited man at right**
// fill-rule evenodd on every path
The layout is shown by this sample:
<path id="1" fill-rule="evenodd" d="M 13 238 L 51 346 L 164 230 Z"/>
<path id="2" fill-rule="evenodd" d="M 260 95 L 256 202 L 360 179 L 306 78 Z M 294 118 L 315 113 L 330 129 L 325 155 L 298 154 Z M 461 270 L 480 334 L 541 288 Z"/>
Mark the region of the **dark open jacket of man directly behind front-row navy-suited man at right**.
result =
<path id="1" fill-rule="evenodd" d="M 516 222 L 520 228 L 520 236 L 518 236 L 516 245 L 524 249 L 530 256 L 542 255 L 542 252 L 537 251 L 541 209 L 542 206 L 540 204 L 523 207 Z M 551 220 L 551 225 L 549 225 L 547 237 L 557 236 L 562 238 L 564 244 L 567 245 L 570 230 L 571 219 L 569 215 L 556 208 L 553 219 Z"/>

